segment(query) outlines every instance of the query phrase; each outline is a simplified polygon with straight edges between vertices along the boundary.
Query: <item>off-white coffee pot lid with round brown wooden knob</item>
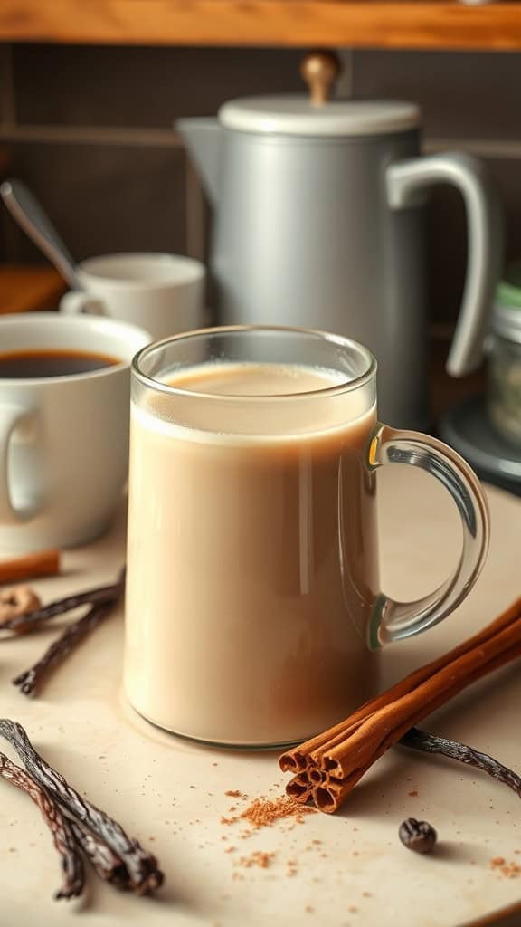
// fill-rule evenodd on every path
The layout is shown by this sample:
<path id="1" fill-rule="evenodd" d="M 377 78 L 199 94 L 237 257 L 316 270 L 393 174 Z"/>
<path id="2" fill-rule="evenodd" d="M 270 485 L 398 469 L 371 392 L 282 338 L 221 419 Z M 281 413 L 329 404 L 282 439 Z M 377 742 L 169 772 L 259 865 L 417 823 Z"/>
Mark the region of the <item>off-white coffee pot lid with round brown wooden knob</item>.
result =
<path id="1" fill-rule="evenodd" d="M 311 52 L 300 73 L 310 95 L 245 96 L 219 110 L 227 129 L 283 135 L 385 135 L 413 129 L 420 108 L 404 100 L 330 100 L 340 73 L 338 57 Z"/>

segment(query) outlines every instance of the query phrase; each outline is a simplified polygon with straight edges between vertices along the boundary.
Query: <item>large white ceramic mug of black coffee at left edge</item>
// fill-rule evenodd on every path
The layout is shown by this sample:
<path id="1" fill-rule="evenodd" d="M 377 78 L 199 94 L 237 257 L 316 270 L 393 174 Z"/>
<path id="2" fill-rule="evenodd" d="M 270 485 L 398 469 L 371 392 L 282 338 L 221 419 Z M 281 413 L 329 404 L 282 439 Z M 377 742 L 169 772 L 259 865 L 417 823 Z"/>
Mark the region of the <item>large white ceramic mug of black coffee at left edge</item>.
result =
<path id="1" fill-rule="evenodd" d="M 0 317 L 0 355 L 71 350 L 119 362 L 83 374 L 0 375 L 0 548 L 72 547 L 102 534 L 128 472 L 134 325 L 57 312 Z"/>

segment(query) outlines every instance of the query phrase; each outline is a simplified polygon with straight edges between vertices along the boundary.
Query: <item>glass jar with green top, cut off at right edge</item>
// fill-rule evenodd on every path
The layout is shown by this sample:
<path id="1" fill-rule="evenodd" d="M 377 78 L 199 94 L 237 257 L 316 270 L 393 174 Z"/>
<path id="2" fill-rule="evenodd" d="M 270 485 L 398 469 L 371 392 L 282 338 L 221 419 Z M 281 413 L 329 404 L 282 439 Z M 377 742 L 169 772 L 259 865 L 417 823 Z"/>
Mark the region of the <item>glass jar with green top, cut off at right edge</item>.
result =
<path id="1" fill-rule="evenodd" d="M 502 438 L 521 447 L 521 305 L 498 301 L 491 327 L 489 418 Z"/>

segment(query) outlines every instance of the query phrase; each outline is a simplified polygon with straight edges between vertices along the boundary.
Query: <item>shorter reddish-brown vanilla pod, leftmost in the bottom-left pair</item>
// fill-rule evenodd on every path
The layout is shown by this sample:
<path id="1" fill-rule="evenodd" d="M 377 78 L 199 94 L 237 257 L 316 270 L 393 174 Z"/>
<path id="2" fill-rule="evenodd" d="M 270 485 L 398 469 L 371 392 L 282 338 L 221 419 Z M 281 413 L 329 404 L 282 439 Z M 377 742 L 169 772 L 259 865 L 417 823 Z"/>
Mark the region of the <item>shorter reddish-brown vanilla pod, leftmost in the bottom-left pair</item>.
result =
<path id="1" fill-rule="evenodd" d="M 0 777 L 12 782 L 27 793 L 40 808 L 45 824 L 52 833 L 60 857 L 64 881 L 56 898 L 72 898 L 81 895 L 85 883 L 83 858 L 76 844 L 70 822 L 65 818 L 57 803 L 46 794 L 39 782 L 24 769 L 20 769 L 3 753 L 0 753 Z"/>

